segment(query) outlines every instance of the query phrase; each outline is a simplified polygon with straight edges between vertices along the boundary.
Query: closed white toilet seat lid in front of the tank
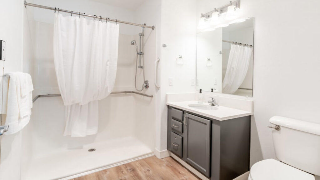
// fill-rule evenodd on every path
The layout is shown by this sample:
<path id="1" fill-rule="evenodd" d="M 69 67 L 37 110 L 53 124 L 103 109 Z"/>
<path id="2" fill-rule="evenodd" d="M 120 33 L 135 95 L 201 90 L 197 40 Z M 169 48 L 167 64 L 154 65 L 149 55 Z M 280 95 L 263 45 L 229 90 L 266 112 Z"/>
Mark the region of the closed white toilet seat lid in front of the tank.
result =
<path id="1" fill-rule="evenodd" d="M 255 163 L 248 180 L 315 180 L 315 176 L 274 159 Z"/>

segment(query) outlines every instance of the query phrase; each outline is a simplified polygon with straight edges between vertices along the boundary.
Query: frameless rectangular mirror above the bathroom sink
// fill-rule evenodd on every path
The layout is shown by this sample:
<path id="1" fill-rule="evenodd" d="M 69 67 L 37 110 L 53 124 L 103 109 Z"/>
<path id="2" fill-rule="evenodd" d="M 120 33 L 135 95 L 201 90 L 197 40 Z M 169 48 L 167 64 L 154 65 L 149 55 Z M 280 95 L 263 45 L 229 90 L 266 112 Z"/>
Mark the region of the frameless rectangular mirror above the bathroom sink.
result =
<path id="1" fill-rule="evenodd" d="M 197 34 L 196 89 L 252 97 L 254 18 Z"/>

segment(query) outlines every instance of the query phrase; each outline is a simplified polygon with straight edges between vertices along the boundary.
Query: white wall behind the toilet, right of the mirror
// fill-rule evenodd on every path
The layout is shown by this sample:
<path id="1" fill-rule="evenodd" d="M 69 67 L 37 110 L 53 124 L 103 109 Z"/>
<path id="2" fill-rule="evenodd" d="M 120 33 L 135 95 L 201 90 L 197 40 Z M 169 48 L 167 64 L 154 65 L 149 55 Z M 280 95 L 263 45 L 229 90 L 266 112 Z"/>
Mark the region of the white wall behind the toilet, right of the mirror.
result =
<path id="1" fill-rule="evenodd" d="M 198 2 L 198 14 L 228 4 Z M 319 6 L 316 0 L 241 1 L 242 16 L 255 17 L 251 165 L 275 158 L 267 128 L 272 116 L 320 123 Z"/>

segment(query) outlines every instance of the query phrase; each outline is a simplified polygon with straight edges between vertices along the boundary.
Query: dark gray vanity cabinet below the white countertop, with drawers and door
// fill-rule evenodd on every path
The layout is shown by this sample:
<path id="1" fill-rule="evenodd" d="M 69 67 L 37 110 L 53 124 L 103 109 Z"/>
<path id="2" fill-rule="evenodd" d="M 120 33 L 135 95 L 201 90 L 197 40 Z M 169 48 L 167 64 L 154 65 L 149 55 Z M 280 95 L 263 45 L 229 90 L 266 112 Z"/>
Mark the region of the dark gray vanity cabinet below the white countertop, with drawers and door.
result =
<path id="1" fill-rule="evenodd" d="M 216 120 L 168 106 L 167 149 L 212 180 L 249 171 L 250 116 Z"/>

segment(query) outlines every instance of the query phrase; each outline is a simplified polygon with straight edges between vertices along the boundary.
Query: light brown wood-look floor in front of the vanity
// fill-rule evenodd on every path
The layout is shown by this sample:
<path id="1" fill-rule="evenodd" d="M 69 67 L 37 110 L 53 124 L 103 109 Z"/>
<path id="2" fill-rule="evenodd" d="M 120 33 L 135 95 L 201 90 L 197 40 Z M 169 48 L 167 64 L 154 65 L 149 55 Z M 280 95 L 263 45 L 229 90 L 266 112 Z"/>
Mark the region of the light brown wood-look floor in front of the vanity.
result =
<path id="1" fill-rule="evenodd" d="M 199 180 L 179 162 L 155 156 L 99 171 L 73 180 Z"/>

